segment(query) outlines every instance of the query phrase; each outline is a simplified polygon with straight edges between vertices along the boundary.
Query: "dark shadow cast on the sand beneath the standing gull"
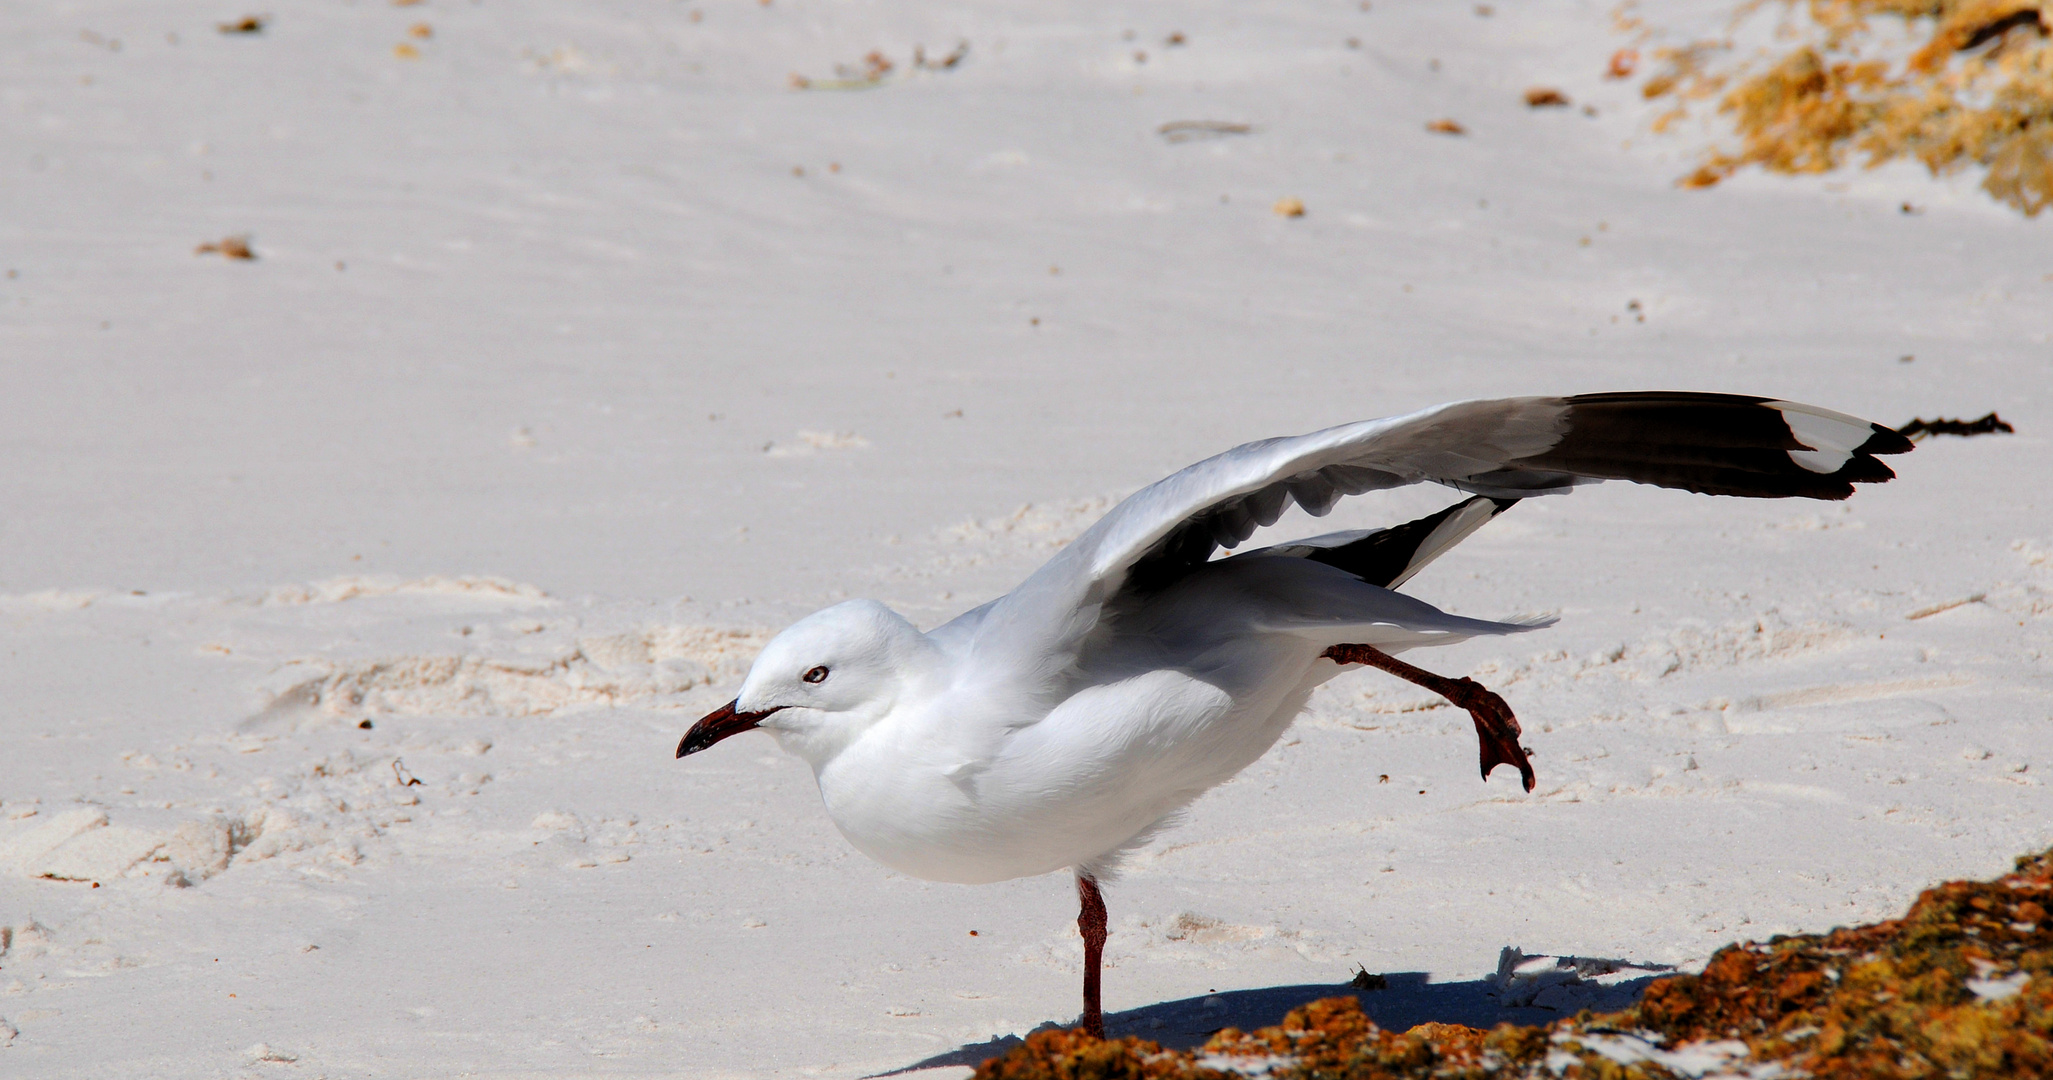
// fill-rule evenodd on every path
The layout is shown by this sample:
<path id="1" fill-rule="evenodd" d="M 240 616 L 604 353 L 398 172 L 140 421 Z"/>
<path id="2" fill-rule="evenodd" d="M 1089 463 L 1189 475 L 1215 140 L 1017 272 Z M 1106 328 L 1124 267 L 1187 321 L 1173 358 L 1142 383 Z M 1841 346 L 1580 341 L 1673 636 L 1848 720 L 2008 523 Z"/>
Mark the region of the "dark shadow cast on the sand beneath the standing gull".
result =
<path id="1" fill-rule="evenodd" d="M 1536 1004 L 1511 1006 L 1503 1002 L 1503 990 L 1497 979 L 1472 979 L 1460 983 L 1435 983 L 1427 981 L 1425 971 L 1394 971 L 1384 975 L 1388 986 L 1384 990 L 1355 990 L 1351 983 L 1304 983 L 1304 986 L 1265 986 L 1261 990 L 1222 990 L 1217 994 L 1205 994 L 1203 998 L 1183 998 L 1176 1002 L 1160 1002 L 1127 1012 L 1109 1012 L 1105 1016 L 1105 1033 L 1113 1039 L 1135 1035 L 1148 1039 L 1150 1043 L 1160 1043 L 1168 1049 L 1191 1049 L 1201 1045 L 1211 1033 L 1222 1027 L 1236 1027 L 1240 1031 L 1254 1031 L 1258 1027 L 1271 1027 L 1283 1020 L 1283 1014 L 1320 998 L 1341 998 L 1353 996 L 1361 1002 L 1361 1010 L 1376 1020 L 1384 1031 L 1406 1031 L 1412 1025 L 1441 1023 L 1441 1025 L 1466 1025 L 1490 1029 L 1503 1023 L 1511 1025 L 1546 1025 L 1564 1014 L 1573 1014 L 1575 1008 L 1566 1012 L 1560 1008 L 1546 1008 Z M 1659 975 L 1647 975 L 1640 979 L 1620 981 L 1605 988 L 1601 1006 L 1605 1010 L 1624 1008 L 1638 1002 L 1640 992 L 1647 983 L 1655 981 Z M 1597 1002 L 1577 1002 L 1597 1004 Z M 1047 1023 L 1035 1031 L 1045 1031 L 1051 1027 L 1070 1027 Z M 914 1062 L 905 1068 L 891 1072 L 879 1072 L 881 1076 L 901 1076 L 918 1070 L 932 1070 L 944 1066 L 981 1066 L 983 1062 L 998 1057 L 1000 1053 L 1020 1045 L 1024 1039 L 1018 1035 L 1004 1035 L 998 1039 L 987 1039 L 983 1043 L 971 1043 L 955 1047 L 946 1053 L 936 1053 L 924 1062 Z M 866 1078 L 866 1080 L 875 1080 Z"/>

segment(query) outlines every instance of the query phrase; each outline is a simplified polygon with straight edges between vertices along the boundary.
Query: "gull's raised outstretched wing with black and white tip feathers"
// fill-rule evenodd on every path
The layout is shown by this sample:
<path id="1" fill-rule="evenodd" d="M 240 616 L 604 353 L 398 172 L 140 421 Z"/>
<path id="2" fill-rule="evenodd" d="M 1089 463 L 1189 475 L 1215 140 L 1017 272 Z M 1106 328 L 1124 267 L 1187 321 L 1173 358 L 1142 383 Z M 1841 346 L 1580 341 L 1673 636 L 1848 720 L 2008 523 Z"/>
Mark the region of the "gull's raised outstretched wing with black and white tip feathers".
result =
<path id="1" fill-rule="evenodd" d="M 1735 394 L 1632 392 L 1466 400 L 1263 439 L 1133 493 L 975 628 L 979 667 L 1053 680 L 1123 587 L 1160 587 L 1295 503 L 1439 483 L 1493 499 L 1634 480 L 1706 495 L 1846 499 L 1911 441 L 1844 413 Z M 1480 522 L 1478 522 L 1480 524 Z"/>

